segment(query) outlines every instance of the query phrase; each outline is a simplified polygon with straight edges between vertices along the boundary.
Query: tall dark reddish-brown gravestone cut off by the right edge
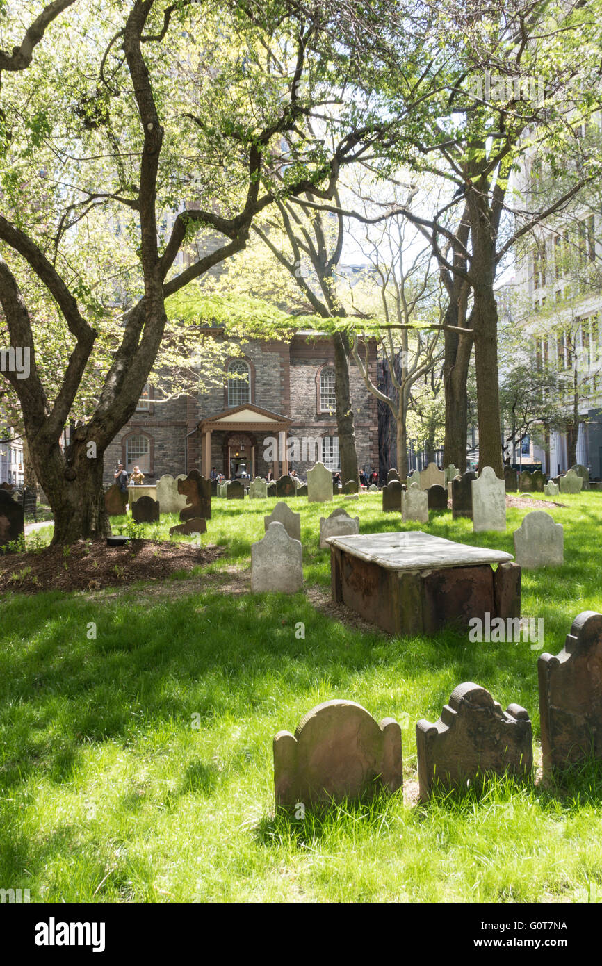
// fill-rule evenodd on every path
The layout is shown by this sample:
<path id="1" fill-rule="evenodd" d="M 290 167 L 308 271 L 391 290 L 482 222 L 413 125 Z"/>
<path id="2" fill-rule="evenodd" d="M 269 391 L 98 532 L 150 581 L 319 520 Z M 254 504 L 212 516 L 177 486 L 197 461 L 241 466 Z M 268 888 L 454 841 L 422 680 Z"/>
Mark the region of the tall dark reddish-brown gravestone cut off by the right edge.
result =
<path id="1" fill-rule="evenodd" d="M 602 758 L 602 613 L 575 617 L 562 650 L 537 661 L 544 772 Z"/>

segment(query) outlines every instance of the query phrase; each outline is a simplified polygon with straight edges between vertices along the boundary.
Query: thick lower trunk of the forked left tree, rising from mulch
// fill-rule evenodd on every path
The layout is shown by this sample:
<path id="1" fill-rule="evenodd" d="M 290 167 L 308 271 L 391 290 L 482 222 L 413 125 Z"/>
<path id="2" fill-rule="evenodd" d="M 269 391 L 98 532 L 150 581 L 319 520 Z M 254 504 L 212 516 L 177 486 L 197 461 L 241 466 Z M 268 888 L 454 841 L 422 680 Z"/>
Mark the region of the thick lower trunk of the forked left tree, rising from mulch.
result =
<path id="1" fill-rule="evenodd" d="M 58 443 L 30 441 L 38 479 L 54 518 L 52 544 L 101 540 L 111 532 L 102 492 L 102 454 L 88 457 L 86 440 L 72 440 L 67 459 Z"/>

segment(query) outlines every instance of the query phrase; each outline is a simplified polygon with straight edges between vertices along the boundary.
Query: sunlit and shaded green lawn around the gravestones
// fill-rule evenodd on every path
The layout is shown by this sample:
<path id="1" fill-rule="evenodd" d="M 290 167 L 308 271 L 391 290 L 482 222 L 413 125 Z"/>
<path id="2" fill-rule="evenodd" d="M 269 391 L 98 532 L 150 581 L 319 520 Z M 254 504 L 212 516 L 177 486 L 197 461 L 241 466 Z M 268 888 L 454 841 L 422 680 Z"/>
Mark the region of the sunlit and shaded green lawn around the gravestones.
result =
<path id="1" fill-rule="evenodd" d="M 566 562 L 523 575 L 523 614 L 543 617 L 553 653 L 577 613 L 602 611 L 602 494 L 560 501 Z M 274 502 L 214 500 L 202 541 L 227 553 L 212 574 L 248 568 Z M 290 504 L 301 509 L 305 581 L 325 590 L 318 522 L 332 506 L 358 513 L 361 532 L 418 526 L 383 515 L 380 495 Z M 512 553 L 526 512 L 508 511 L 505 534 L 473 534 L 450 513 L 420 528 Z M 165 538 L 174 522 L 143 529 Z M 272 737 L 331 697 L 378 720 L 408 716 L 408 790 L 416 721 L 436 720 L 461 681 L 528 708 L 538 758 L 529 643 L 472 644 L 455 631 L 391 639 L 330 619 L 302 593 L 225 594 L 211 580 L 204 592 L 171 582 L 158 595 L 140 584 L 0 598 L 0 888 L 29 889 L 33 902 L 602 901 L 595 764 L 562 787 L 502 780 L 480 799 L 418 806 L 397 793 L 273 817 Z"/>

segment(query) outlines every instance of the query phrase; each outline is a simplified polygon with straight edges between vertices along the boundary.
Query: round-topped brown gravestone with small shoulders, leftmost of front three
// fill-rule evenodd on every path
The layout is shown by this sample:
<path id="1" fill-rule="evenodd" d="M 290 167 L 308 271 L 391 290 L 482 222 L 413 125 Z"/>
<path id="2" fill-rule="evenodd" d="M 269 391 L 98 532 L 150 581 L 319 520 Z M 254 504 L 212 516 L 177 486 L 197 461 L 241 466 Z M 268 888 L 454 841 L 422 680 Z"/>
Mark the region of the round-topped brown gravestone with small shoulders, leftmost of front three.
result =
<path id="1" fill-rule="evenodd" d="M 318 704 L 294 735 L 273 739 L 273 783 L 283 809 L 395 792 L 403 784 L 401 728 L 392 718 L 377 724 L 354 701 Z"/>

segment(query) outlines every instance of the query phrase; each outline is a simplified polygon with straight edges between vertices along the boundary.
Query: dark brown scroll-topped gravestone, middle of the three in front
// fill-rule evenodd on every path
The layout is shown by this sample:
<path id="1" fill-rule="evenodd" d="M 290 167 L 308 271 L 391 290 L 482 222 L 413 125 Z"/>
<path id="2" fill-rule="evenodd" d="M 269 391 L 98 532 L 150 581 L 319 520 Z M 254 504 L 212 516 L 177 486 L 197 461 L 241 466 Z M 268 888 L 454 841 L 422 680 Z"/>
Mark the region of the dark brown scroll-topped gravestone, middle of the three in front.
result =
<path id="1" fill-rule="evenodd" d="M 500 480 L 503 484 L 503 480 Z M 420 801 L 435 788 L 465 791 L 487 775 L 529 779 L 533 764 L 529 712 L 518 704 L 505 711 L 485 688 L 459 684 L 435 724 L 416 724 Z"/>

